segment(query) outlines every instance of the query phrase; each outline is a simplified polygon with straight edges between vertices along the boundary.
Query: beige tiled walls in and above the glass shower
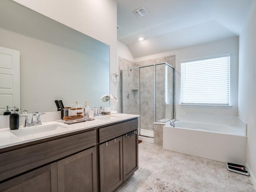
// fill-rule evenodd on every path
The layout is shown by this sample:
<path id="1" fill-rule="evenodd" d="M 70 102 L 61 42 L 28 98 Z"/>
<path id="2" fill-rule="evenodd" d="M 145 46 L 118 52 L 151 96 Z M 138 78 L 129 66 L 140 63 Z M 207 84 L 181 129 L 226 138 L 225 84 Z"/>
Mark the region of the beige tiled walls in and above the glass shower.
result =
<path id="1" fill-rule="evenodd" d="M 157 59 L 146 60 L 142 62 L 131 62 L 119 57 L 119 69 L 128 69 L 138 66 L 147 66 L 152 64 L 168 63 L 175 68 L 175 55 L 166 56 Z M 159 65 L 156 68 L 156 120 L 161 120 L 172 116 L 173 106 L 164 106 L 164 66 Z M 154 130 L 154 67 L 145 67 L 140 69 L 140 128 Z M 172 70 L 168 70 L 168 76 L 172 77 Z M 138 68 L 125 70 L 122 74 L 122 84 L 125 89 L 122 89 L 122 105 L 123 113 L 139 114 L 138 111 Z M 143 77 L 143 78 L 142 78 Z M 169 84 L 168 86 L 173 86 Z M 168 87 L 169 89 L 170 87 Z M 170 100 L 173 100 L 170 95 Z M 166 109 L 165 109 L 166 108 Z"/>

